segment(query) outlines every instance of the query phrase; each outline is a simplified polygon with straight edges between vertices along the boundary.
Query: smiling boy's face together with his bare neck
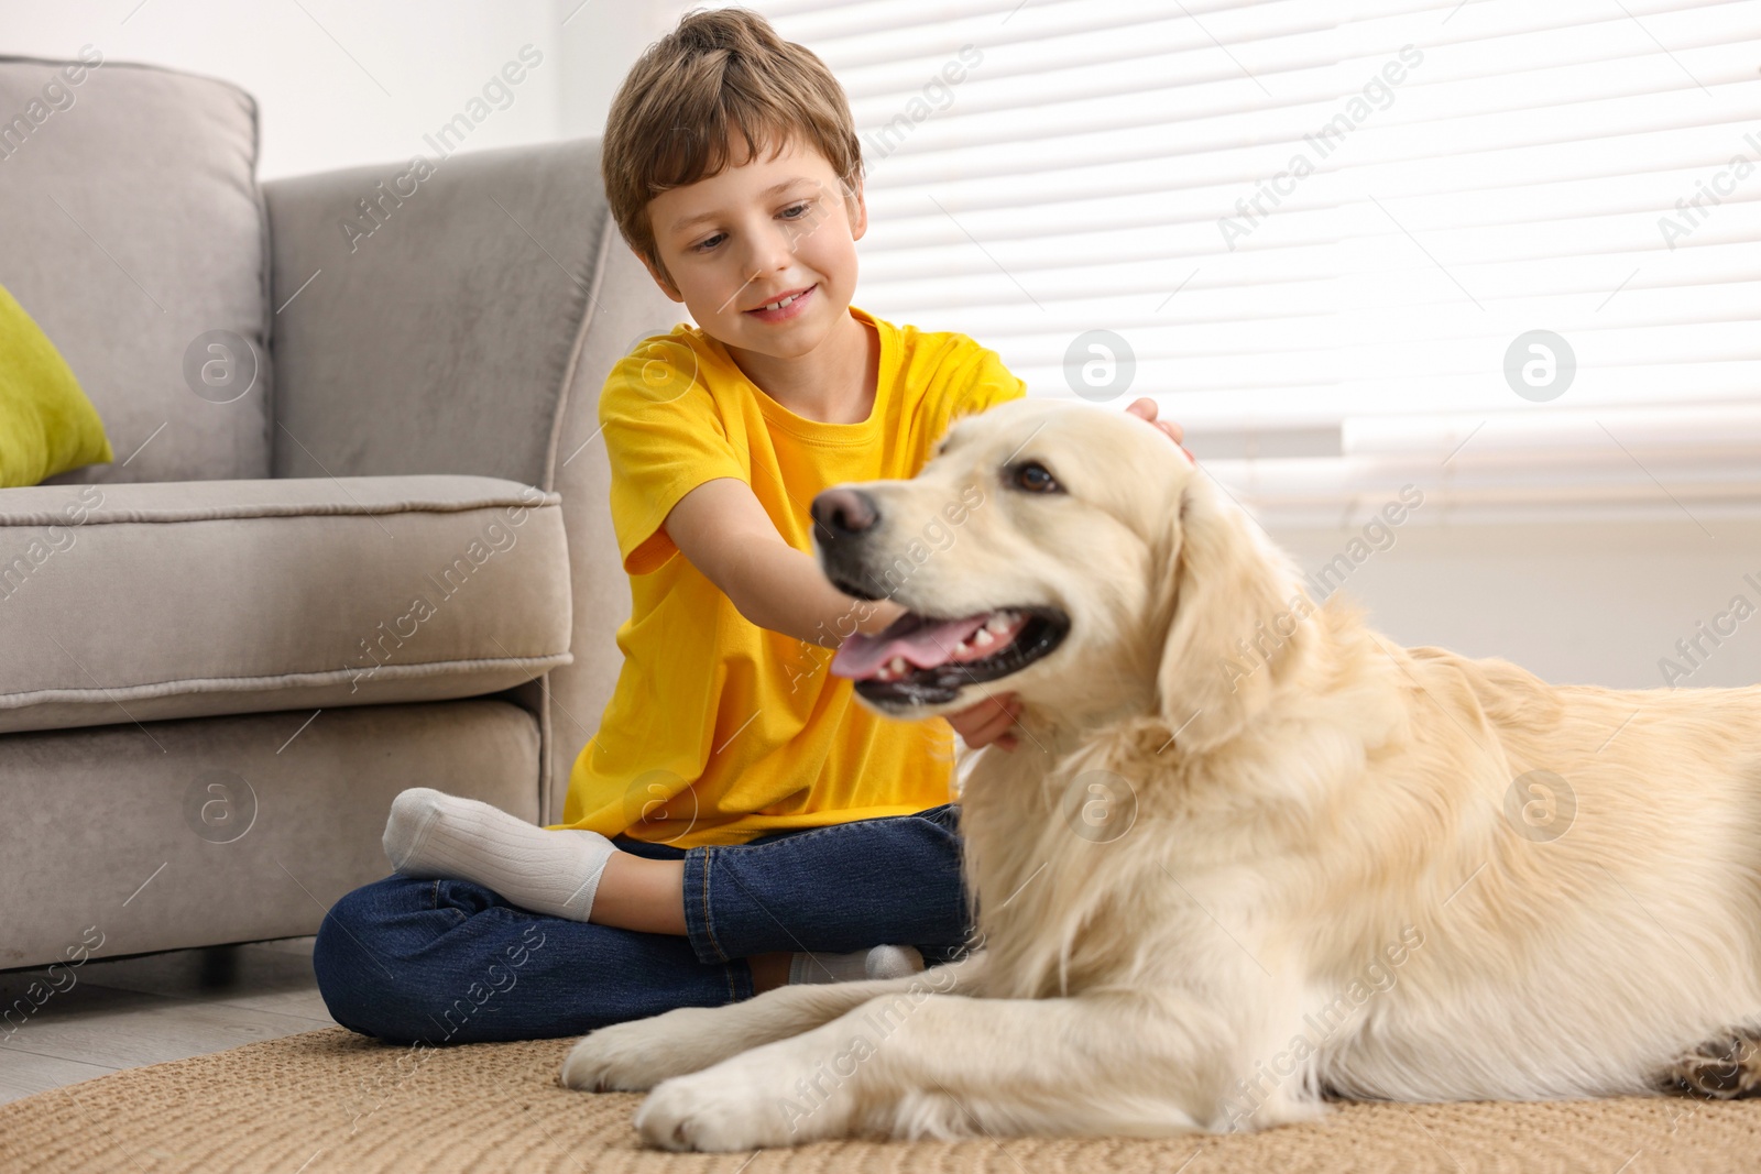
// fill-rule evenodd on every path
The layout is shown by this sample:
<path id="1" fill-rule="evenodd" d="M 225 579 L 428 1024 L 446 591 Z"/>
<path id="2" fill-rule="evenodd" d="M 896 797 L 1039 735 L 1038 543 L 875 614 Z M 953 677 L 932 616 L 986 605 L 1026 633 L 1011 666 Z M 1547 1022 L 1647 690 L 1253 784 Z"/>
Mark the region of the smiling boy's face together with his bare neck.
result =
<path id="1" fill-rule="evenodd" d="M 743 146 L 736 134 L 731 150 Z M 815 419 L 865 417 L 870 340 L 849 312 L 856 241 L 868 229 L 861 188 L 845 197 L 810 144 L 791 141 L 775 158 L 768 148 L 650 201 L 673 285 L 648 271 L 784 407 Z"/>

